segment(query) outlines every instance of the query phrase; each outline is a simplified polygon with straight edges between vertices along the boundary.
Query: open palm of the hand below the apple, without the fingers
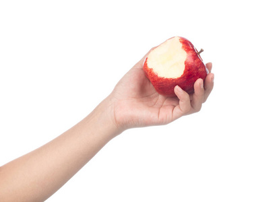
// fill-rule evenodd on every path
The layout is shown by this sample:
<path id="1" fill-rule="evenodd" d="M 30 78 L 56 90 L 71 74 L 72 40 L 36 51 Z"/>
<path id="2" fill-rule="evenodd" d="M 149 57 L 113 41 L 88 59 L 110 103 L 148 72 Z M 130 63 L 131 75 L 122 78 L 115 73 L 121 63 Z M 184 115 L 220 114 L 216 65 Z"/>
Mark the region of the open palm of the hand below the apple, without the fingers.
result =
<path id="1" fill-rule="evenodd" d="M 179 99 L 158 94 L 142 68 L 133 67 L 119 81 L 114 92 L 118 100 L 115 116 L 125 114 L 125 125 L 163 125 L 175 119 L 172 112 Z"/>

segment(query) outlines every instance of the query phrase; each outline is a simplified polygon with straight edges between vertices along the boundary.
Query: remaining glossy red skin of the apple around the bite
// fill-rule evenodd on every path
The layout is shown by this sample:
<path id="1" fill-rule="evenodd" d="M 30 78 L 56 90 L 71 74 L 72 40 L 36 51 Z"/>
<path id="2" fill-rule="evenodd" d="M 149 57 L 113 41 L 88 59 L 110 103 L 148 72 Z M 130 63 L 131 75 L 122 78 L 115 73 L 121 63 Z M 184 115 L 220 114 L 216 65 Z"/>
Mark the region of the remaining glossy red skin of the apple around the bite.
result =
<path id="1" fill-rule="evenodd" d="M 204 80 L 209 72 L 205 67 L 200 55 L 197 54 L 198 51 L 193 44 L 186 38 L 181 36 L 179 36 L 179 38 L 183 50 L 187 52 L 185 70 L 183 71 L 183 75 L 181 75 L 181 77 L 177 77 L 175 79 L 158 77 L 158 75 L 154 73 L 154 70 L 148 67 L 148 57 L 143 63 L 143 71 L 146 73 L 148 79 L 150 79 L 150 82 L 156 91 L 162 96 L 175 97 L 176 94 L 174 93 L 174 87 L 177 85 L 189 94 L 194 92 L 195 81 L 199 78 Z"/>

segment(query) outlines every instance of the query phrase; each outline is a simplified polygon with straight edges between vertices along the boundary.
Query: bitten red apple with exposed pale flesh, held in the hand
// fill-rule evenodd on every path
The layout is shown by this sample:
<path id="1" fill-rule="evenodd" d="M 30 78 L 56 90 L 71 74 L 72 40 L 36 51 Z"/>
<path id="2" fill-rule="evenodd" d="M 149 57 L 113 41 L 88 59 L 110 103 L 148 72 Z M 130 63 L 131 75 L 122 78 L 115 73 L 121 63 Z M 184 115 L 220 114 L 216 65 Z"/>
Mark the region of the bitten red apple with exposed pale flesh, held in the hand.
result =
<path id="1" fill-rule="evenodd" d="M 199 52 L 186 38 L 174 36 L 153 48 L 143 63 L 148 79 L 163 96 L 174 97 L 174 87 L 179 86 L 187 93 L 194 92 L 197 79 L 205 79 L 208 69 Z"/>

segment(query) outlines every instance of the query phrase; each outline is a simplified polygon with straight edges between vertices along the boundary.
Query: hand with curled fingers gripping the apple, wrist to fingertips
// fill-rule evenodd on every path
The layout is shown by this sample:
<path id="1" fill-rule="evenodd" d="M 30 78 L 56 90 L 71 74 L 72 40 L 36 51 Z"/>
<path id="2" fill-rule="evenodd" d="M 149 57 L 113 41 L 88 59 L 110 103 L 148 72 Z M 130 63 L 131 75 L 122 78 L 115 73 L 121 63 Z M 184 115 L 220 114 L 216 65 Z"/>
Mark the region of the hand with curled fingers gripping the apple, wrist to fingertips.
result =
<path id="1" fill-rule="evenodd" d="M 214 87 L 212 63 L 207 63 L 210 73 L 204 82 L 203 79 L 195 81 L 193 94 L 187 94 L 176 86 L 174 92 L 177 97 L 162 96 L 143 71 L 147 55 L 125 74 L 110 94 L 113 120 L 121 131 L 132 127 L 165 125 L 181 116 L 198 112 Z"/>

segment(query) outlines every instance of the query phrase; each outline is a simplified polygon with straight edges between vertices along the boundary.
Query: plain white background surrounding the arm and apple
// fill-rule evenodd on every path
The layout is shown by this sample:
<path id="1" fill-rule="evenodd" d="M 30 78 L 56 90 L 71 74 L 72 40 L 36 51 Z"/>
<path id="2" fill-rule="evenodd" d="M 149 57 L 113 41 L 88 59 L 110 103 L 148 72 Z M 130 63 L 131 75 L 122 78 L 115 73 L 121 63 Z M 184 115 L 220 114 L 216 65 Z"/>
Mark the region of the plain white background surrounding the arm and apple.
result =
<path id="1" fill-rule="evenodd" d="M 0 1 L 0 165 L 90 113 L 172 36 L 212 61 L 197 114 L 125 131 L 47 201 L 256 201 L 253 1 Z"/>

